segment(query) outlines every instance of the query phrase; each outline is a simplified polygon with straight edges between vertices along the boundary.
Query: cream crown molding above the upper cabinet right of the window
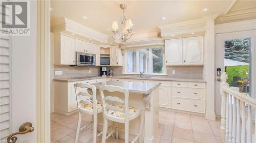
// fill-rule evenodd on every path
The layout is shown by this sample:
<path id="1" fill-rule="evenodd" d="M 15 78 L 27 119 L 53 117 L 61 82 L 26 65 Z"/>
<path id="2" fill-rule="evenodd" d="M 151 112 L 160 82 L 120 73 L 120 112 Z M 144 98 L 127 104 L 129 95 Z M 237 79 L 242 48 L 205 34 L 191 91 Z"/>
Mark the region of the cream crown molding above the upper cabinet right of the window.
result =
<path id="1" fill-rule="evenodd" d="M 193 32 L 203 33 L 206 30 L 205 18 L 179 22 L 174 24 L 158 26 L 161 30 L 161 37 L 164 39 L 172 38 L 172 35 L 184 35 Z"/>

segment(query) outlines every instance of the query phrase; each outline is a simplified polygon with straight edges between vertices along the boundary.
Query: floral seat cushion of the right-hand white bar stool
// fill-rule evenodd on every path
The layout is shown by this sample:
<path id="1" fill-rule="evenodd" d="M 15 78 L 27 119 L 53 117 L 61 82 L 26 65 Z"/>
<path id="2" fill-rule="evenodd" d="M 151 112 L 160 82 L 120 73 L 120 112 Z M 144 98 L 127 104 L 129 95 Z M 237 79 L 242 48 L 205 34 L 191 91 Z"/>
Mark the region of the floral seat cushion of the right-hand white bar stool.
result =
<path id="1" fill-rule="evenodd" d="M 125 110 L 124 105 L 115 105 L 115 106 L 118 108 L 121 108 L 122 110 Z M 134 115 L 136 113 L 136 111 L 138 111 L 138 109 L 136 107 L 129 106 L 129 115 L 130 116 Z M 114 117 L 124 118 L 124 113 L 120 112 L 120 111 L 114 111 L 112 109 L 108 109 L 107 113 Z"/>

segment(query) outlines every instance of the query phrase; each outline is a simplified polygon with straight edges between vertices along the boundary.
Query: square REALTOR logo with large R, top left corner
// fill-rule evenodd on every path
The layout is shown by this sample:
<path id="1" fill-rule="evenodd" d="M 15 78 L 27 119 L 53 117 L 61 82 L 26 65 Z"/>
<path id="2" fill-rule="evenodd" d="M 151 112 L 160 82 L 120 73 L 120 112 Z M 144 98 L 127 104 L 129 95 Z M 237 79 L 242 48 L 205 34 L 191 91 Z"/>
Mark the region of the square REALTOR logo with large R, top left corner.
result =
<path id="1" fill-rule="evenodd" d="M 1 2 L 2 24 L 0 35 L 28 36 L 29 2 Z"/>

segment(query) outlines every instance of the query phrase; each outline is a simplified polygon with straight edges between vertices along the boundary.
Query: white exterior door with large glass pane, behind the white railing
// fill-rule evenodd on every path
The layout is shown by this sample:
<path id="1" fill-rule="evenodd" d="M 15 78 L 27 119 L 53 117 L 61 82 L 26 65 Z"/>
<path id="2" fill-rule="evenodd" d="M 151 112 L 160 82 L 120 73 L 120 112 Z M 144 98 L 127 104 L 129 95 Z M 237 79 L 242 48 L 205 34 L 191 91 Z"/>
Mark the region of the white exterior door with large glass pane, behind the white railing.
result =
<path id="1" fill-rule="evenodd" d="M 245 96 L 255 97 L 256 31 L 216 35 L 216 114 L 221 115 L 220 75 L 226 72 L 230 87 L 240 89 Z"/>

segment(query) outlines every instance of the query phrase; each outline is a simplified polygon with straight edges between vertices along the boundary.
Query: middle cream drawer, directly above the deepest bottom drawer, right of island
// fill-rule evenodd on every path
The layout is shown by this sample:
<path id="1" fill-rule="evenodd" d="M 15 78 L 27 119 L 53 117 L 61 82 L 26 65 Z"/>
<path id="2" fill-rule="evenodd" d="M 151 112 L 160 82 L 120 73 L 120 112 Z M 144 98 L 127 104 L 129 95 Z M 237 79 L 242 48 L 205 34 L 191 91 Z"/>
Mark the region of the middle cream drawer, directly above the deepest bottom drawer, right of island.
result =
<path id="1" fill-rule="evenodd" d="M 172 87 L 172 96 L 192 99 L 205 99 L 205 90 Z"/>

